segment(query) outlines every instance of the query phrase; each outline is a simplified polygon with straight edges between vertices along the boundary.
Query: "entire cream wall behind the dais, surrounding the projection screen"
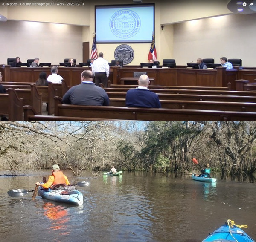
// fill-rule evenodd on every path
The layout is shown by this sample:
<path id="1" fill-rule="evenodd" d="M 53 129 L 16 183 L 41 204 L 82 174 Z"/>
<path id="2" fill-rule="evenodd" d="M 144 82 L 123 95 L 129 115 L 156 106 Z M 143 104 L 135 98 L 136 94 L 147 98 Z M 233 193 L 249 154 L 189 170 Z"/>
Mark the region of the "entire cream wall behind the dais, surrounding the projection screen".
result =
<path id="1" fill-rule="evenodd" d="M 254 61 L 256 40 L 256 14 L 229 14 L 229 0 L 198 1 L 151 1 L 155 2 L 155 43 L 157 58 L 175 58 L 178 65 L 195 61 L 198 57 L 214 58 L 219 63 L 221 56 L 241 58 L 243 66 L 256 66 Z M 73 7 L 6 7 L 0 9 L 9 18 L 19 21 L 0 22 L 0 43 L 4 46 L 0 64 L 8 57 L 27 58 L 38 56 L 41 62 L 58 64 L 64 58 L 82 61 L 82 42 L 89 41 L 94 32 L 94 6 L 118 4 L 119 0 L 95 0 L 80 8 Z M 132 3 L 124 0 L 122 4 Z M 186 4 L 185 4 L 186 3 Z M 209 17 L 209 18 L 207 18 Z M 183 23 L 185 20 L 203 18 Z M 51 23 L 25 22 L 34 20 Z M 70 23 L 53 24 L 53 23 Z M 161 30 L 161 24 L 164 29 Z M 81 25 L 81 26 L 80 26 Z M 119 44 L 97 44 L 98 52 L 111 61 Z M 131 65 L 146 62 L 150 43 L 130 44 L 134 49 Z"/>

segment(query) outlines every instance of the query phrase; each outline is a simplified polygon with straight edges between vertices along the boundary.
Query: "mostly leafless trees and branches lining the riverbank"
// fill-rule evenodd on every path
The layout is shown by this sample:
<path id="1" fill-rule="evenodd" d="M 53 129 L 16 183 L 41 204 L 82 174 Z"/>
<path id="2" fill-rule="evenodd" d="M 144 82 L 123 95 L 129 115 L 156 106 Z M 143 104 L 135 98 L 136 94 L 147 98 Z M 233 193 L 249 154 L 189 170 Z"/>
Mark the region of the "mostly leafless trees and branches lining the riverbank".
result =
<path id="1" fill-rule="evenodd" d="M 59 164 L 79 176 L 113 164 L 166 173 L 256 171 L 255 122 L 77 121 L 0 122 L 0 169 L 12 174 Z"/>

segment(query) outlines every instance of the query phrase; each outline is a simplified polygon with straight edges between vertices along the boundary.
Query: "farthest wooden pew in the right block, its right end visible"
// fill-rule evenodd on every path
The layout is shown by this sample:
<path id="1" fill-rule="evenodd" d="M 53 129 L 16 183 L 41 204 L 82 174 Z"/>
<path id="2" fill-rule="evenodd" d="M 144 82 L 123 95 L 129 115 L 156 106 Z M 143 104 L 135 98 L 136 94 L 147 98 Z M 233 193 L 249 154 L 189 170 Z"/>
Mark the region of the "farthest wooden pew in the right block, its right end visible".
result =
<path id="1" fill-rule="evenodd" d="M 118 85 L 118 84 L 110 84 L 108 83 L 108 87 L 112 88 L 136 88 L 138 85 Z M 148 86 L 148 89 L 197 89 L 197 90 L 230 90 L 231 84 L 230 82 L 226 87 L 224 86 Z"/>

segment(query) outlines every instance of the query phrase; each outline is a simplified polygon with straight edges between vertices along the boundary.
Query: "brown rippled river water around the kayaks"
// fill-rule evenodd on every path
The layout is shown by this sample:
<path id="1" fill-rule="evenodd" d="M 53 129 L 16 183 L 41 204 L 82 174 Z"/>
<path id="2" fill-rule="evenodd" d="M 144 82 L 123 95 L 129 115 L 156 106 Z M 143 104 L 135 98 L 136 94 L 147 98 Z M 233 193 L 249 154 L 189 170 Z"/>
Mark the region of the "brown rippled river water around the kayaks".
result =
<path id="1" fill-rule="evenodd" d="M 72 184 L 83 180 L 65 174 Z M 0 176 L 1 242 L 200 242 L 227 219 L 248 225 L 244 231 L 256 239 L 255 183 L 123 172 L 77 187 L 84 195 L 81 206 L 40 196 L 31 201 L 32 192 L 8 196 L 8 190 L 34 189 L 42 176 Z"/>

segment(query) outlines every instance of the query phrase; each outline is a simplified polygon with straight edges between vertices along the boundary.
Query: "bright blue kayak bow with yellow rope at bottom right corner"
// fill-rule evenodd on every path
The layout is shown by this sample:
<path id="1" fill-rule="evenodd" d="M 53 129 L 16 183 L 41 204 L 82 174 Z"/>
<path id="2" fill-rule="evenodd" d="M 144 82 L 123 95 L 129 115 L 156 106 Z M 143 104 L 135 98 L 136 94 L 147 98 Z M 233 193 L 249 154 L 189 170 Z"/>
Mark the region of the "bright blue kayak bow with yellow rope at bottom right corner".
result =
<path id="1" fill-rule="evenodd" d="M 239 225 L 228 225 L 226 222 L 225 225 L 212 232 L 202 242 L 254 242 L 247 233 L 237 226 Z"/>

